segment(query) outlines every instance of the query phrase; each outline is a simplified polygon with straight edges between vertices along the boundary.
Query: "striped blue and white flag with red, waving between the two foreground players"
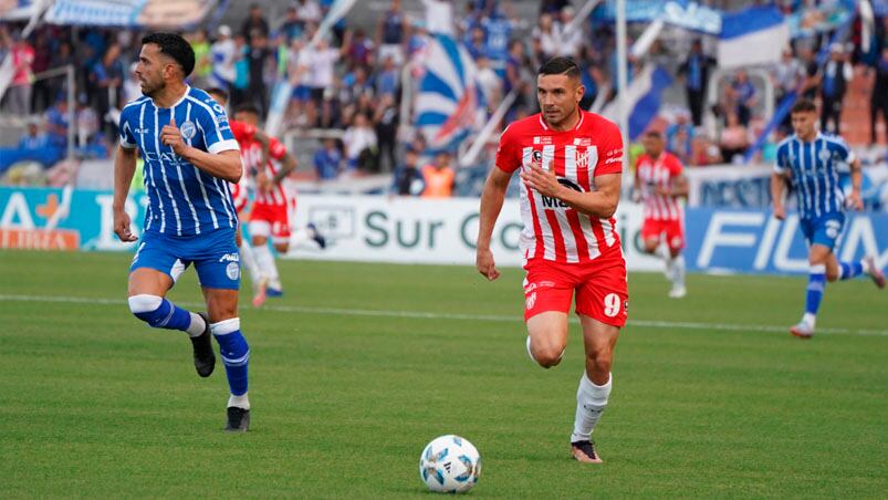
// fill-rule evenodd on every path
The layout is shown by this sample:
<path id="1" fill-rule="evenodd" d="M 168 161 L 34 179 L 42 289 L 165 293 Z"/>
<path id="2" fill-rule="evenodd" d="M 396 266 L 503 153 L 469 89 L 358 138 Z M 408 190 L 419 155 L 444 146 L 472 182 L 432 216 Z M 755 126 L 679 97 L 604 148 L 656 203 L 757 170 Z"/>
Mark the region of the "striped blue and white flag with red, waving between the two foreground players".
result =
<path id="1" fill-rule="evenodd" d="M 483 94 L 469 52 L 447 35 L 429 44 L 415 102 L 416 127 L 429 149 L 453 148 L 483 124 Z"/>

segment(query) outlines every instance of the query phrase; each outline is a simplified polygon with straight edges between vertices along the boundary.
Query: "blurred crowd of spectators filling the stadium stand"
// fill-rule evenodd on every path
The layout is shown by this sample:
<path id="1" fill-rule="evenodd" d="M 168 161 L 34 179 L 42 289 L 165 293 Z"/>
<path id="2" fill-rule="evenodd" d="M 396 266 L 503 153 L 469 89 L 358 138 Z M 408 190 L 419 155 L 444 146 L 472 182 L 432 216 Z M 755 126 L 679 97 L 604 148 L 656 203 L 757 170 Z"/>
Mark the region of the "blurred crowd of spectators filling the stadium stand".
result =
<path id="1" fill-rule="evenodd" d="M 351 27 L 343 20 L 333 27 L 330 37 L 313 45 L 310 41 L 330 3 L 294 1 L 278 20 L 268 19 L 255 4 L 240 25 L 187 33 L 198 60 L 192 85 L 229 88 L 232 110 L 252 103 L 264 116 L 272 88 L 286 79 L 293 92 L 284 129 L 339 131 L 331 135 L 338 138 L 323 140 L 313 155 L 314 171 L 322 180 L 393 171 L 393 192 L 416 194 L 421 189 L 415 187 L 414 180 L 433 175 L 441 163 L 453 163 L 455 152 L 446 159 L 428 157 L 420 140 L 399 129 L 401 70 L 419 64 L 429 32 L 441 29 L 431 24 L 446 24 L 448 15 L 453 34 L 477 62 L 489 108 L 495 108 L 504 95 L 518 88 L 506 123 L 537 111 L 533 93 L 535 69 L 553 55 L 575 58 L 585 70 L 584 107 L 605 90 L 613 95 L 616 87 L 613 27 L 596 25 L 593 30 L 592 23 L 586 22 L 581 23 L 579 30 L 568 30 L 575 11 L 565 0 L 541 1 L 537 20 L 530 24 L 516 17 L 513 2 L 508 1 L 424 0 L 428 12 L 419 18 L 406 13 L 398 0 L 391 0 L 372 29 Z M 777 3 L 792 11 L 816 2 Z M 140 95 L 134 76 L 140 33 L 43 25 L 22 39 L 20 29 L 21 24 L 0 25 L 0 56 L 9 53 L 15 64 L 3 111 L 42 119 L 29 122 L 19 147 L 50 145 L 59 148 L 61 157 L 72 125 L 67 123 L 64 76 L 34 81 L 33 75 L 73 64 L 77 82 L 76 146 L 84 156 L 109 155 L 116 142 L 116 111 Z M 888 123 L 887 30 L 888 19 L 878 19 L 876 49 L 863 53 L 860 30 L 856 28 L 847 44 L 829 48 L 830 60 L 824 67 L 818 67 L 814 58 L 828 33 L 786 48 L 783 61 L 769 71 L 775 102 L 794 90 L 817 97 L 823 107 L 822 128 L 835 131 L 848 83 L 855 72 L 866 73 L 873 82 L 871 143 L 876 144 L 878 116 Z M 673 87 L 686 97 L 668 123 L 661 124 L 668 147 L 690 166 L 738 162 L 764 125 L 761 86 L 753 84 L 745 71 L 736 71 L 722 85 L 718 104 L 708 110 L 704 94 L 717 69 L 708 50 L 711 48 L 690 33 L 679 42 L 655 42 L 645 56 L 667 62 L 676 76 Z M 630 56 L 628 63 L 631 81 L 644 61 Z M 703 116 L 710 111 L 717 117 L 714 127 L 703 126 Z M 788 132 L 786 122 L 775 139 Z M 765 147 L 764 159 L 773 153 L 773 144 Z M 452 169 L 450 165 L 441 168 Z"/>

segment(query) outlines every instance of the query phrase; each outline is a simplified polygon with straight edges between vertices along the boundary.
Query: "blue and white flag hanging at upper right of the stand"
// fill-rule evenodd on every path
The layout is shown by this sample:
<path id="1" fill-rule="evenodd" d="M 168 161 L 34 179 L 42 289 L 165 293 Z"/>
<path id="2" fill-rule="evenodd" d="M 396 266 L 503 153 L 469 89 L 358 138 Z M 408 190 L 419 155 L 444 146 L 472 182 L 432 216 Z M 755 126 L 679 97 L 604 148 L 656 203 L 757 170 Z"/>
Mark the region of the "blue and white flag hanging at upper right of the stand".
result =
<path id="1" fill-rule="evenodd" d="M 790 43 L 790 25 L 776 7 L 752 7 L 725 13 L 719 37 L 719 66 L 780 62 Z"/>

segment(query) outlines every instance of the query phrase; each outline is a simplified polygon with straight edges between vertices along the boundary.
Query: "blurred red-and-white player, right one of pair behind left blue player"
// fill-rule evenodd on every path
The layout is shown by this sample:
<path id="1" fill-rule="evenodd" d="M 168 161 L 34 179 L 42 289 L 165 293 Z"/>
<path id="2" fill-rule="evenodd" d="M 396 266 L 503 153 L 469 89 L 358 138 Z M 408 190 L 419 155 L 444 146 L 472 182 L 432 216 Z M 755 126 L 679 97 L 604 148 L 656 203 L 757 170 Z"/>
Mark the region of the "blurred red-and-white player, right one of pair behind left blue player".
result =
<path id="1" fill-rule="evenodd" d="M 234 118 L 248 125 L 259 124 L 259 110 L 245 104 L 238 107 Z M 296 159 L 291 155 L 283 144 L 276 138 L 269 138 L 269 158 L 263 162 L 261 146 L 253 142 L 248 144 L 242 150 L 244 165 L 255 171 L 255 200 L 250 212 L 250 238 L 252 239 L 255 260 L 267 283 L 265 293 L 268 296 L 283 295 L 281 278 L 278 265 L 274 263 L 274 256 L 268 246 L 269 239 L 274 249 L 281 254 L 290 250 L 290 244 L 295 236 L 295 243 L 299 238 L 313 239 L 322 248 L 325 240 L 314 226 L 310 226 L 305 231 L 294 235 L 291 227 L 293 220 L 291 215 L 295 208 L 295 199 L 284 187 L 284 179 L 295 170 Z"/>

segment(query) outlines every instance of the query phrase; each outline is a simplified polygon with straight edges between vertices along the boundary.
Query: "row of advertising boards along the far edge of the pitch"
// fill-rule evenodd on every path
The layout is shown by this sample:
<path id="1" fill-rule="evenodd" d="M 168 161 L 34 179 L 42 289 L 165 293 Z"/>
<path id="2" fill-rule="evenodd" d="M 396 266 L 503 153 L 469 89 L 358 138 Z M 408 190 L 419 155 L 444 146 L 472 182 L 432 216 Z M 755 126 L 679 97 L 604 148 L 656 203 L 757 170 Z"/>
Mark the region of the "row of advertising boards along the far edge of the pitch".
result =
<path id="1" fill-rule="evenodd" d="M 69 213 L 52 230 L 63 190 L 0 187 L 0 249 L 133 251 L 114 235 L 113 194 L 74 190 Z M 135 235 L 142 230 L 147 198 L 126 204 Z M 522 263 L 519 201 L 508 199 L 494 228 L 492 250 L 502 267 Z M 781 222 L 762 209 L 689 208 L 686 212 L 688 269 L 717 273 L 806 273 L 807 250 L 798 217 Z M 617 212 L 629 270 L 659 271 L 662 262 L 640 251 L 641 206 L 624 201 Z M 288 258 L 433 264 L 474 264 L 478 199 L 428 200 L 385 196 L 302 195 L 295 226 L 314 222 L 326 236 L 325 250 L 292 249 Z M 888 265 L 888 213 L 848 217 L 836 254 L 842 260 L 876 256 Z"/>

